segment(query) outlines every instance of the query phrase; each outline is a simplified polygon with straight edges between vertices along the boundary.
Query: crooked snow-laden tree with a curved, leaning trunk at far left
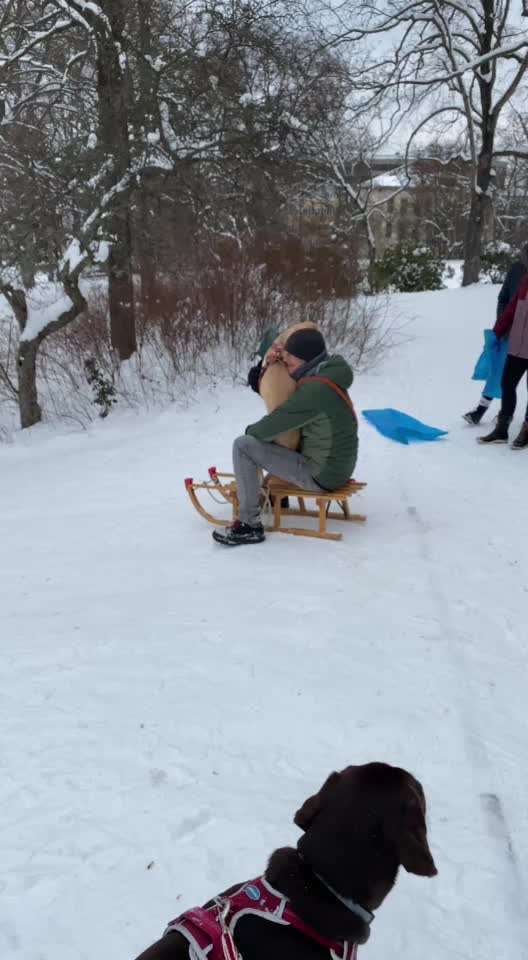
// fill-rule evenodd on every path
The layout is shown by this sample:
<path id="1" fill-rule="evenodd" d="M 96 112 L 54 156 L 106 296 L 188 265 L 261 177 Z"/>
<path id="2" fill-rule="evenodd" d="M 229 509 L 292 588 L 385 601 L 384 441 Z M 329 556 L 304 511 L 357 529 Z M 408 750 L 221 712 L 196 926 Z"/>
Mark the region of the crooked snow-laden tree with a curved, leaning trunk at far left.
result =
<path id="1" fill-rule="evenodd" d="M 94 4 L 78 4 L 92 7 Z M 92 142 L 97 128 L 89 34 L 66 2 L 6 6 L 0 84 L 0 292 L 17 320 L 23 427 L 41 418 L 36 362 L 42 342 L 84 309 L 79 282 L 131 188 L 132 171 Z M 84 24 L 82 24 L 84 30 Z M 38 271 L 52 270 L 55 303 L 32 308 Z"/>

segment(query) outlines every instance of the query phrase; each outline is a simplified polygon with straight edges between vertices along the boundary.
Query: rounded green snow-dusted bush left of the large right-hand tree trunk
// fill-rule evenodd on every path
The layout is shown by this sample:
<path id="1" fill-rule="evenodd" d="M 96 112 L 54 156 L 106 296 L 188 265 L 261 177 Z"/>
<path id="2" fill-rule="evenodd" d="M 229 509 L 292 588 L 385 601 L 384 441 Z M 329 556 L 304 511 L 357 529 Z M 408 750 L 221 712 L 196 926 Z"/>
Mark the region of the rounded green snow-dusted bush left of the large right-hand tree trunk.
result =
<path id="1" fill-rule="evenodd" d="M 378 290 L 414 293 L 441 290 L 445 263 L 429 247 L 402 244 L 385 251 L 375 265 Z"/>

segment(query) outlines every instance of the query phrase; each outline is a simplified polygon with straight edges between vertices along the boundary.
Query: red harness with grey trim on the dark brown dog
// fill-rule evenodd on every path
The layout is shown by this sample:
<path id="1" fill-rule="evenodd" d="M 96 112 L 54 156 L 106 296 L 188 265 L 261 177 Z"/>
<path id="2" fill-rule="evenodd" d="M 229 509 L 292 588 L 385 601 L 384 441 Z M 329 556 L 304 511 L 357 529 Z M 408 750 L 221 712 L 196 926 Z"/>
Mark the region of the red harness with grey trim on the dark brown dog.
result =
<path id="1" fill-rule="evenodd" d="M 357 960 L 357 945 L 328 940 L 304 923 L 289 900 L 258 877 L 210 907 L 194 907 L 169 923 L 165 933 L 180 933 L 189 943 L 189 960 L 240 960 L 233 939 L 241 917 L 248 914 L 272 923 L 294 927 L 329 951 L 331 960 Z"/>

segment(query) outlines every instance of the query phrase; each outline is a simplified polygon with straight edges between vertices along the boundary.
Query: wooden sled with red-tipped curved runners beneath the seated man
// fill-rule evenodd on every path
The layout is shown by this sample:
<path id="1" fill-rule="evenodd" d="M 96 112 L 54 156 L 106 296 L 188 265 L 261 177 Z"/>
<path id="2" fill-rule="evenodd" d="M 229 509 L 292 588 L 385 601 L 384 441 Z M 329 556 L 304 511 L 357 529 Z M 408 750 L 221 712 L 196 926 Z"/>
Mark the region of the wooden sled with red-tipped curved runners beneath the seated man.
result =
<path id="1" fill-rule="evenodd" d="M 366 483 L 359 483 L 357 480 L 349 480 L 348 483 L 339 490 L 333 490 L 331 493 L 325 493 L 321 490 L 301 490 L 285 480 L 277 477 L 266 477 L 264 481 L 264 509 L 268 507 L 273 523 L 265 527 L 267 532 L 289 533 L 297 537 L 315 537 L 319 540 L 341 540 L 342 533 L 333 533 L 327 528 L 328 520 L 341 520 L 347 523 L 364 523 L 366 516 L 361 513 L 351 513 L 349 500 L 356 493 L 360 493 L 366 487 Z M 192 477 L 185 480 L 185 489 L 195 510 L 204 517 L 208 523 L 217 527 L 228 526 L 238 519 L 238 499 L 236 492 L 236 481 L 233 473 L 218 472 L 216 467 L 210 467 L 209 480 L 195 482 Z M 207 493 L 210 499 L 218 504 L 229 504 L 231 507 L 231 517 L 228 519 L 215 517 L 206 509 L 202 502 L 202 491 Z M 296 507 L 283 507 L 282 501 L 285 498 L 295 500 Z M 315 501 L 315 509 L 307 506 L 307 501 Z M 332 508 L 332 504 L 335 507 Z M 337 509 L 336 509 L 337 508 Z M 284 526 L 283 520 L 288 517 L 310 517 L 318 521 L 315 529 L 308 527 Z"/>

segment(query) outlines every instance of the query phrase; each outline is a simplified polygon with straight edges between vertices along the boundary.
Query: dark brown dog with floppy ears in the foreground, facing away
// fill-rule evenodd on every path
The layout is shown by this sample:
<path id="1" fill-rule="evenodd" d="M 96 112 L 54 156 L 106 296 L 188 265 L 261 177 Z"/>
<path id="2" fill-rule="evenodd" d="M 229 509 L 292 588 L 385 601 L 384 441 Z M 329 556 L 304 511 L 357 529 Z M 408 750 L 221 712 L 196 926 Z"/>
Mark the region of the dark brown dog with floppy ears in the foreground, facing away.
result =
<path id="1" fill-rule="evenodd" d="M 242 910 L 232 930 L 239 956 L 243 960 L 355 957 L 352 945 L 368 939 L 372 912 L 394 886 L 399 867 L 421 877 L 437 872 L 427 843 L 425 814 L 423 789 L 406 770 L 368 763 L 332 773 L 295 815 L 295 823 L 304 831 L 297 849 L 276 850 L 264 879 L 258 881 L 287 901 L 299 924 L 285 924 L 277 914 L 259 915 L 258 908 Z M 220 900 L 246 890 L 249 896 L 255 887 L 233 887 Z M 249 900 L 248 905 L 252 906 Z M 213 902 L 206 907 L 214 913 Z M 331 951 L 327 941 L 339 942 L 342 950 Z M 222 953 L 213 948 L 208 956 Z M 200 953 L 190 952 L 185 936 L 172 932 L 137 960 L 194 958 L 200 958 Z"/>

